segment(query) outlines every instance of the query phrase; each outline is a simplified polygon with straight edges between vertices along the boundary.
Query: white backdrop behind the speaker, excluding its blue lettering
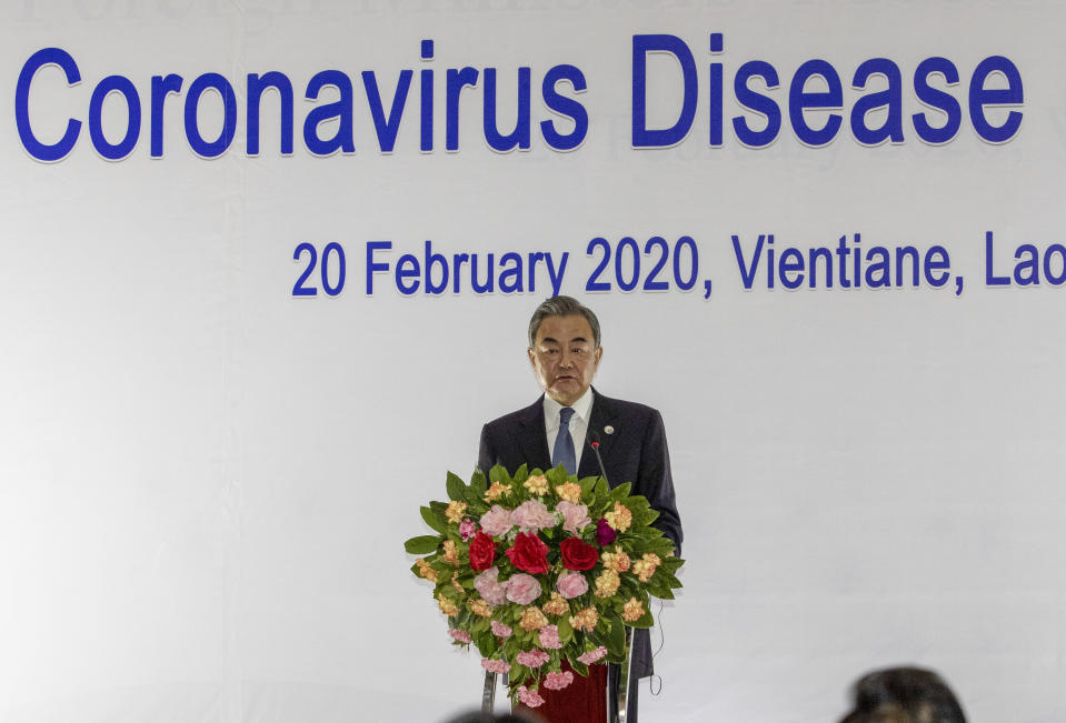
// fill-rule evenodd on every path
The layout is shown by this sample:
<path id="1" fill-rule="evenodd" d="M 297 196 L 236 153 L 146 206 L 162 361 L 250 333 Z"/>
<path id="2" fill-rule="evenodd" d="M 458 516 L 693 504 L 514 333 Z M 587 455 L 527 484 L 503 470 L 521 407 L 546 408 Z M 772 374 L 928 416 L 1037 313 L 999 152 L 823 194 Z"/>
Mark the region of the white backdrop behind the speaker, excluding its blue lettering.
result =
<path id="1" fill-rule="evenodd" d="M 0 720 L 439 721 L 477 703 L 478 659 L 447 644 L 402 541 L 424 532 L 417 505 L 444 495 L 445 471 L 469 473 L 480 425 L 538 393 L 525 324 L 549 291 L 540 275 L 535 292 L 405 297 L 377 274 L 368 295 L 366 243 L 379 240 L 392 263 L 426 240 L 482 260 L 569 252 L 562 292 L 604 325 L 598 388 L 662 412 L 688 563 L 662 617 L 662 693 L 641 694 L 647 720 L 834 721 L 856 676 L 896 663 L 943 672 L 974 721 L 1066 720 L 1066 288 L 989 288 L 984 262 L 988 231 L 998 272 L 1019 243 L 1064 242 L 1063 6 L 26 0 L 0 13 Z M 630 142 L 645 33 L 677 36 L 696 59 L 693 130 L 668 149 Z M 44 163 L 14 107 L 23 64 L 50 47 L 82 82 L 37 73 L 34 132 L 54 143 L 68 118 L 86 122 Z M 943 118 L 911 77 L 937 56 L 958 68 L 960 83 L 939 88 L 962 120 L 931 145 L 910 114 Z M 1020 129 L 998 144 L 967 110 L 990 56 L 1018 68 L 1025 93 Z M 797 140 L 787 111 L 793 73 L 815 58 L 845 99 L 821 148 Z M 855 100 L 885 87 L 850 87 L 869 58 L 901 69 L 901 143 L 867 148 L 848 130 Z M 751 83 L 784 109 L 765 149 L 730 124 L 758 122 L 733 96 L 750 60 L 780 76 L 777 90 Z M 721 148 L 707 143 L 711 62 L 726 78 Z M 560 63 L 588 86 L 560 89 L 589 116 L 570 152 L 538 130 L 568 128 L 540 101 Z M 531 68 L 529 151 L 486 145 L 484 82 L 464 91 L 459 151 L 445 150 L 446 71 L 465 66 L 498 69 L 505 131 L 517 69 Z M 419 151 L 426 68 L 432 152 Z M 309 110 L 337 98 L 303 100 L 327 69 L 353 83 L 352 154 L 302 142 Z M 388 103 L 404 69 L 415 79 L 382 154 L 360 72 Z M 668 57 L 649 69 L 649 124 L 665 128 L 680 76 Z M 292 81 L 296 148 L 279 152 L 270 96 L 250 158 L 243 79 L 269 71 Z M 189 84 L 208 72 L 238 108 L 236 140 L 212 160 L 182 127 Z M 151 78 L 168 73 L 185 86 L 153 159 Z M 94 152 L 87 121 L 112 74 L 145 110 L 119 161 Z M 221 108 L 205 96 L 208 140 Z M 988 110 L 995 123 L 1006 113 Z M 110 96 L 110 143 L 126 119 Z M 940 244 L 965 288 L 746 291 L 730 237 L 749 254 L 759 233 L 778 251 L 854 233 L 863 248 Z M 586 253 L 590 239 L 686 234 L 709 299 L 701 284 L 586 292 L 601 253 Z M 336 298 L 293 298 L 301 242 L 343 245 Z"/>

